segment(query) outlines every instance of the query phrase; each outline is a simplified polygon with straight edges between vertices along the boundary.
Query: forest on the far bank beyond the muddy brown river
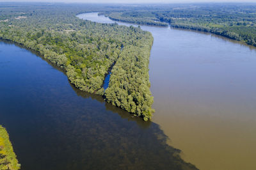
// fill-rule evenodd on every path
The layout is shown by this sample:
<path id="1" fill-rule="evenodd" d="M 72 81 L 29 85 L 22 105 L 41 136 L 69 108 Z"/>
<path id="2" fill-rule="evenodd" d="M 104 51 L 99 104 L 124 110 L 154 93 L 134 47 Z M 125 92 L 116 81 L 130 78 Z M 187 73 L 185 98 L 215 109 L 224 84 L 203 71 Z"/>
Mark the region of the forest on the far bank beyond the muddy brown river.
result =
<path id="1" fill-rule="evenodd" d="M 195 3 L 137 6 L 102 12 L 113 20 L 214 33 L 256 47 L 256 4 Z"/>

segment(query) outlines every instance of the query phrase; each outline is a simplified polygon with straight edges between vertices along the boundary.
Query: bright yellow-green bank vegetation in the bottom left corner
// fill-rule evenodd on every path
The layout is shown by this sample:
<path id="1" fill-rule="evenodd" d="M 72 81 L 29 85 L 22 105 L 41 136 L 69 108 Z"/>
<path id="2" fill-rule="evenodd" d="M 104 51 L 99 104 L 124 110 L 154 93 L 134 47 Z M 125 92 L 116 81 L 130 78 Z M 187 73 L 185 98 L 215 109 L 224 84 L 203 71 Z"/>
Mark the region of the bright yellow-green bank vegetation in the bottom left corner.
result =
<path id="1" fill-rule="evenodd" d="M 0 125 L 0 169 L 20 169 L 8 132 Z"/>

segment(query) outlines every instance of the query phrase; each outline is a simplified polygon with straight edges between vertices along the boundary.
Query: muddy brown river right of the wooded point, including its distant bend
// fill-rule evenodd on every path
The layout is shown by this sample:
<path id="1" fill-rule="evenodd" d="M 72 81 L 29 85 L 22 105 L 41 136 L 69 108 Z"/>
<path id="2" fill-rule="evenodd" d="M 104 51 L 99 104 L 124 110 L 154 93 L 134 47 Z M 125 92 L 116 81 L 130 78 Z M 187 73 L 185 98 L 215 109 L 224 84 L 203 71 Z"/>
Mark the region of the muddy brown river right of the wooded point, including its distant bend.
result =
<path id="1" fill-rule="evenodd" d="M 97 13 L 77 17 L 114 23 Z M 154 36 L 153 121 L 168 143 L 200 169 L 256 169 L 255 48 L 195 31 L 141 29 Z"/>

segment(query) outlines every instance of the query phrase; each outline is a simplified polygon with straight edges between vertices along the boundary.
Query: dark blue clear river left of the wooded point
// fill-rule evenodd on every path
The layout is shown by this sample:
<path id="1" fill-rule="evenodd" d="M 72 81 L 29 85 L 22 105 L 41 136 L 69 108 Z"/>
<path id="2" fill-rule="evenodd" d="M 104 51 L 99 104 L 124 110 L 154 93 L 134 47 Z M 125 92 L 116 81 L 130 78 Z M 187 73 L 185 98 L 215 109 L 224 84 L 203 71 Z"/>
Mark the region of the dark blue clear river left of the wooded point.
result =
<path id="1" fill-rule="evenodd" d="M 0 42 L 0 124 L 22 169 L 196 169 L 156 123 L 84 93 L 32 52 Z"/>

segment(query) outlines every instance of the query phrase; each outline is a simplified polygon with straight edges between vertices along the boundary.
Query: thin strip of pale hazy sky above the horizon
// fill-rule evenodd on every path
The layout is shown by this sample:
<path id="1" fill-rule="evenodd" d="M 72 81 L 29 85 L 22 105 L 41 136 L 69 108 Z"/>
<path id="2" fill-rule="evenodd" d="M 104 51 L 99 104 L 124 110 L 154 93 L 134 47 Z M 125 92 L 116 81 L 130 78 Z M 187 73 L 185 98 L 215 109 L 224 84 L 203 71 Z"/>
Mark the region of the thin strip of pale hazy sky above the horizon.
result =
<path id="1" fill-rule="evenodd" d="M 256 0 L 0 0 L 0 2 L 52 3 L 256 3 Z"/>

